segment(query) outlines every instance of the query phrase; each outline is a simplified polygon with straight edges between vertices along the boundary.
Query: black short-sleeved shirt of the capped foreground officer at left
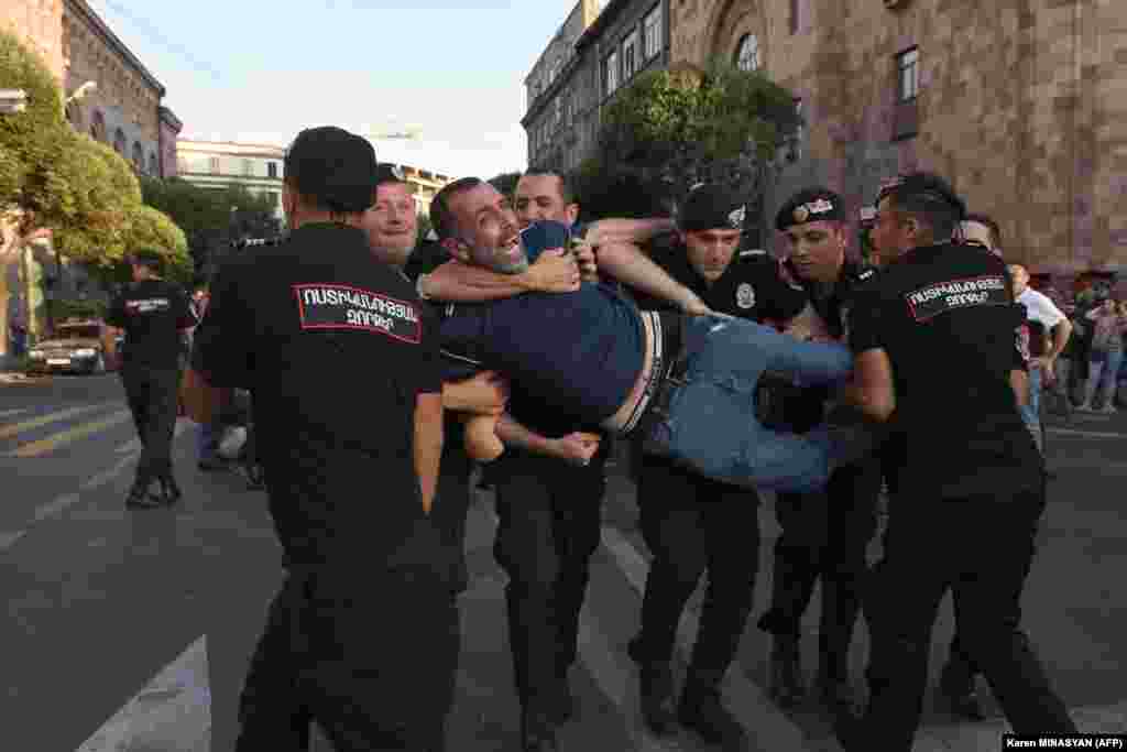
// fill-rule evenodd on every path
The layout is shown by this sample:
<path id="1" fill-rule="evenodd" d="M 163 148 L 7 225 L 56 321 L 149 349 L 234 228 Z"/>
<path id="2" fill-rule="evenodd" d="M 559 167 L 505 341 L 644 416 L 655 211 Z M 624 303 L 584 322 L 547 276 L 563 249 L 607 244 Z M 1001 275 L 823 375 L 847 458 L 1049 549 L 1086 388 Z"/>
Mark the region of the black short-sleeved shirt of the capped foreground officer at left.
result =
<path id="1" fill-rule="evenodd" d="M 429 321 L 411 283 L 340 224 L 220 269 L 193 368 L 250 390 L 291 563 L 444 566 L 414 460 L 416 397 L 442 390 Z"/>

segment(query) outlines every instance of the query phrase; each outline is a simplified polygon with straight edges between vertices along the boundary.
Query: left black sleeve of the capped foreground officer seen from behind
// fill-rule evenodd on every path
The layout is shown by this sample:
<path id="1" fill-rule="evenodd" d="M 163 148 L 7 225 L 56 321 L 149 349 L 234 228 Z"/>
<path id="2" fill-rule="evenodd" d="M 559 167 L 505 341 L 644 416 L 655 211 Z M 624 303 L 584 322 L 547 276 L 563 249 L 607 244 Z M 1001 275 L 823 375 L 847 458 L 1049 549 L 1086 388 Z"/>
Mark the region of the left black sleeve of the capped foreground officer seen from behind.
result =
<path id="1" fill-rule="evenodd" d="M 213 387 L 250 386 L 252 310 L 241 297 L 237 269 L 227 266 L 216 275 L 192 348 L 193 370 Z"/>

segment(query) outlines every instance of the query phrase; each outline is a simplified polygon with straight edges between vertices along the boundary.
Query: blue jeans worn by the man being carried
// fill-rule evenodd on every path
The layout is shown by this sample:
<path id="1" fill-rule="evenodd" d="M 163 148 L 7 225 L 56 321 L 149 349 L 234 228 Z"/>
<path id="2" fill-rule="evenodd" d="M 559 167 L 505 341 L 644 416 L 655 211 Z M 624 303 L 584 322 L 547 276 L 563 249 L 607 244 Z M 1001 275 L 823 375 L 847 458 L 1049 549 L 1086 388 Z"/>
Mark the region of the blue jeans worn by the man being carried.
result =
<path id="1" fill-rule="evenodd" d="M 646 451 L 758 490 L 825 487 L 843 454 L 840 443 L 825 426 L 805 434 L 764 428 L 755 417 L 755 387 L 765 371 L 802 387 L 842 382 L 853 368 L 849 350 L 710 316 L 686 317 L 682 342 L 684 383 L 673 387 L 667 415 L 646 437 Z"/>

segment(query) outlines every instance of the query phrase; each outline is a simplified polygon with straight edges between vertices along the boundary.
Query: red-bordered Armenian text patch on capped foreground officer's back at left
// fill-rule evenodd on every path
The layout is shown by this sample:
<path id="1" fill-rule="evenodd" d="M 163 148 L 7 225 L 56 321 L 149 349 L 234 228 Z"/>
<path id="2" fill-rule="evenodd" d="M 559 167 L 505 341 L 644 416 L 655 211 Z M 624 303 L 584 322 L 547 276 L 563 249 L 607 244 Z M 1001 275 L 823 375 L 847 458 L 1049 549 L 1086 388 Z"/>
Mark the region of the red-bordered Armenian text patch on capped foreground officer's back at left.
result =
<path id="1" fill-rule="evenodd" d="M 360 329 L 419 344 L 423 324 L 412 303 L 341 284 L 295 284 L 302 329 Z"/>

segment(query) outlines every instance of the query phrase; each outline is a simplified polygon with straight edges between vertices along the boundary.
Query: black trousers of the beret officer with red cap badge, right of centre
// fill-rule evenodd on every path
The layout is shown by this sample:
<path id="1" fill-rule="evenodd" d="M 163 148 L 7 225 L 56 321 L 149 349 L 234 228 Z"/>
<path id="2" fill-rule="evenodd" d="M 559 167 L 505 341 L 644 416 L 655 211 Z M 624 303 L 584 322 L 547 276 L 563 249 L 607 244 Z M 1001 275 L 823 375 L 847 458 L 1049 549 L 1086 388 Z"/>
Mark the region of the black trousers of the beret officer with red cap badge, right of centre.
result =
<path id="1" fill-rule="evenodd" d="M 879 460 L 841 468 L 818 494 L 779 494 L 771 607 L 761 629 L 798 638 L 802 614 L 822 578 L 818 652 L 822 670 L 836 679 L 848 665 L 868 575 L 866 549 L 877 530 Z"/>

